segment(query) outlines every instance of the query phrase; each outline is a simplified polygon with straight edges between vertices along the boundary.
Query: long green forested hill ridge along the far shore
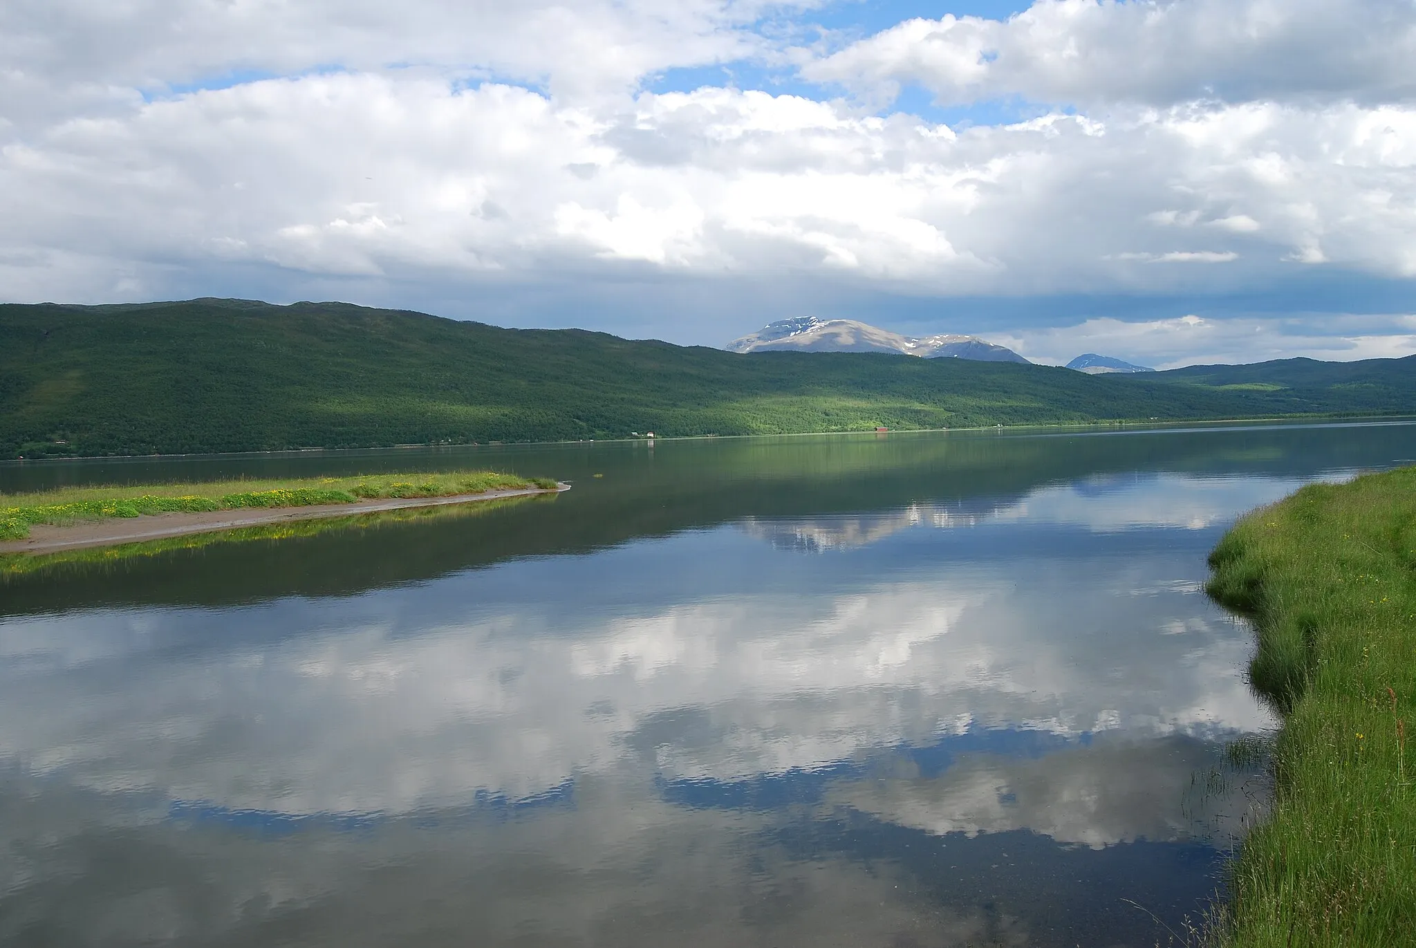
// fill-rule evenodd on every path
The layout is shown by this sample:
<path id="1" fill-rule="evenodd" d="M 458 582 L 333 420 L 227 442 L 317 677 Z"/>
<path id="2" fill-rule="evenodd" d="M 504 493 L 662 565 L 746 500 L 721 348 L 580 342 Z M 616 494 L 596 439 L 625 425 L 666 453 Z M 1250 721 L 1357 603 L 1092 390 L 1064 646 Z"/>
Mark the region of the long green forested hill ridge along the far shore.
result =
<path id="1" fill-rule="evenodd" d="M 346 303 L 4 305 L 0 456 L 1416 411 L 1412 359 L 1300 361 L 1086 376 L 735 354 Z"/>

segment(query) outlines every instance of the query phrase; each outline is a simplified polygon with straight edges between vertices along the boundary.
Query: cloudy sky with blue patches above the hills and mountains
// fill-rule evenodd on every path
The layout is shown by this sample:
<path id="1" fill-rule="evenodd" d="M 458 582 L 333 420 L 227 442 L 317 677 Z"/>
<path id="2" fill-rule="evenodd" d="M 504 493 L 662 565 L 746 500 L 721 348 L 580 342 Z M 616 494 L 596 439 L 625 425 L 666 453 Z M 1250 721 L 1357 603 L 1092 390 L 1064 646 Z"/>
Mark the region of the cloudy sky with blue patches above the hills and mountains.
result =
<path id="1" fill-rule="evenodd" d="M 0 299 L 1416 353 L 1413 0 L 6 0 Z"/>

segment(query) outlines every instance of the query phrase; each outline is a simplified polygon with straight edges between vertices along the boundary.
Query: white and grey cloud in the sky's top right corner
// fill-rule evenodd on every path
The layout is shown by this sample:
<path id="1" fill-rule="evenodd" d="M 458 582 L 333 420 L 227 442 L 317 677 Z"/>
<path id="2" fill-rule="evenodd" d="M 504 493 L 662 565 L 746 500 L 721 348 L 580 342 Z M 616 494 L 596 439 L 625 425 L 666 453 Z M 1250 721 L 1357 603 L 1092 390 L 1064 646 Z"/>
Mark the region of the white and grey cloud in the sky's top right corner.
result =
<path id="1" fill-rule="evenodd" d="M 1392 102 L 1416 95 L 1402 0 L 1038 0 L 1008 20 L 908 20 L 803 74 L 886 99 L 1078 105 Z"/>

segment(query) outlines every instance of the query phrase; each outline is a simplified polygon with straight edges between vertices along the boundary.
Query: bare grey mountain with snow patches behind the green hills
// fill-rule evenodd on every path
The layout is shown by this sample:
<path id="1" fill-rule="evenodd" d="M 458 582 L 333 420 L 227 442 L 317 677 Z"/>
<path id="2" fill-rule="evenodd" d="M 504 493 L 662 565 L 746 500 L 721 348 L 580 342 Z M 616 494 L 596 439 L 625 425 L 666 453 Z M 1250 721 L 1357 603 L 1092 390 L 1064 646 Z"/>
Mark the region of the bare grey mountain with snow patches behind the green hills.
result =
<path id="1" fill-rule="evenodd" d="M 923 359 L 970 359 L 984 363 L 1028 363 L 1027 359 L 986 343 L 977 336 L 901 336 L 888 329 L 858 323 L 854 319 L 817 319 L 797 316 L 782 319 L 750 336 L 724 346 L 729 353 L 807 351 L 807 353 L 902 353 Z"/>

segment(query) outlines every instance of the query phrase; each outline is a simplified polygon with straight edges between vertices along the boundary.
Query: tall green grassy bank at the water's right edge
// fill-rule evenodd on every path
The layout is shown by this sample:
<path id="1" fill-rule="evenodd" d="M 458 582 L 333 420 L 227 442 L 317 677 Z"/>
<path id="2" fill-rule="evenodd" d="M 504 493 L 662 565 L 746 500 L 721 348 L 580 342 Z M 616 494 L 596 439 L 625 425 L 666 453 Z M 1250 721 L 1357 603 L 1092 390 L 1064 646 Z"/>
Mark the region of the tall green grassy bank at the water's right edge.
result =
<path id="1" fill-rule="evenodd" d="M 1416 944 L 1416 469 L 1303 487 L 1235 526 L 1211 567 L 1284 716 L 1226 944 Z"/>

